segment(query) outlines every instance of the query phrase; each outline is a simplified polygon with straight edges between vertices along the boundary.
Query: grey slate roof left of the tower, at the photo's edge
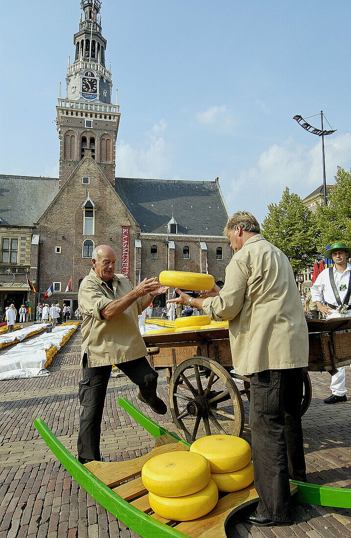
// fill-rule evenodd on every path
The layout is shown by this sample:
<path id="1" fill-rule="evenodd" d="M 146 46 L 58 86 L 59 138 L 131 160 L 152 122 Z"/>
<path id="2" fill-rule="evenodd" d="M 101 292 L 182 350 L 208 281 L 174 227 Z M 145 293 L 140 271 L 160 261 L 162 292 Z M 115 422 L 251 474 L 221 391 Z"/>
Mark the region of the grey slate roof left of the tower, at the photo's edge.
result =
<path id="1" fill-rule="evenodd" d="M 58 192 L 57 178 L 0 174 L 0 225 L 32 226 Z"/>

